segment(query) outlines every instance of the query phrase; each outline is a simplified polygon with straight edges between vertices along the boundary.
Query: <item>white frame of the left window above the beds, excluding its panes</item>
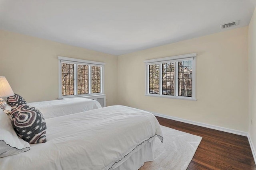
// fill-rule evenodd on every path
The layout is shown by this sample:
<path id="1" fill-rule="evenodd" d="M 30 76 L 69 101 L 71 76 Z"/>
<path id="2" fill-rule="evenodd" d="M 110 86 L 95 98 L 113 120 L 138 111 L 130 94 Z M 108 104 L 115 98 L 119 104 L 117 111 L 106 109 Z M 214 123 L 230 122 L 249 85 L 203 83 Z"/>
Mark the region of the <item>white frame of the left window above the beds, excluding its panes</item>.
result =
<path id="1" fill-rule="evenodd" d="M 74 65 L 74 95 L 62 96 L 62 63 Z M 88 94 L 77 94 L 77 65 L 88 65 Z M 58 99 L 96 96 L 104 94 L 104 66 L 106 63 L 58 56 Z M 100 66 L 100 93 L 92 93 L 91 66 Z M 76 70 L 76 71 L 75 71 Z"/>

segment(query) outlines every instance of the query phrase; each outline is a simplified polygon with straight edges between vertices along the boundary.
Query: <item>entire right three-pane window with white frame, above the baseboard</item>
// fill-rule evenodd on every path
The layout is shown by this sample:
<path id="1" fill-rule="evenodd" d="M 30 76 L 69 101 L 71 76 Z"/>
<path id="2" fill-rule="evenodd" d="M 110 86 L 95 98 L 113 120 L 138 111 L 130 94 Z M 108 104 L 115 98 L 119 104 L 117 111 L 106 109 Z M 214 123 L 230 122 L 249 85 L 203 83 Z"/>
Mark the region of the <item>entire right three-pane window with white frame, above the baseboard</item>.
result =
<path id="1" fill-rule="evenodd" d="M 196 53 L 146 60 L 146 96 L 196 100 Z"/>

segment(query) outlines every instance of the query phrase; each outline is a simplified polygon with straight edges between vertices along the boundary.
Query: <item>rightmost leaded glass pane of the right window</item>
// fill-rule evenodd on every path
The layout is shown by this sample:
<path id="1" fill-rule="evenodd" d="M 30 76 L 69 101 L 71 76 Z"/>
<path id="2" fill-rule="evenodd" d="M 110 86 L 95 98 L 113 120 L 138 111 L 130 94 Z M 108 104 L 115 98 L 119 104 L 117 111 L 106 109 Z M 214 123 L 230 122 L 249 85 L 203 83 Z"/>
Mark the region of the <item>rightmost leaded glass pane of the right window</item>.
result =
<path id="1" fill-rule="evenodd" d="M 178 62 L 178 96 L 192 96 L 192 61 Z"/>

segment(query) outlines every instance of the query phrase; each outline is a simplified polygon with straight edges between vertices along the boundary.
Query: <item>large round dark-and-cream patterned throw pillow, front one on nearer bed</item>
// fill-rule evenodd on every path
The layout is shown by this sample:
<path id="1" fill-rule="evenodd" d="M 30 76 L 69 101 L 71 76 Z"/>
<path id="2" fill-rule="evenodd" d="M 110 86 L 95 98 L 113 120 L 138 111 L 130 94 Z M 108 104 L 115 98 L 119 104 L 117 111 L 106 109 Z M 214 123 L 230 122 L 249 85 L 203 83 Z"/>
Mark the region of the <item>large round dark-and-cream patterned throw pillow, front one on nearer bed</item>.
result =
<path id="1" fill-rule="evenodd" d="M 42 113 L 26 104 L 12 107 L 11 115 L 14 130 L 29 143 L 46 142 L 46 122 Z"/>

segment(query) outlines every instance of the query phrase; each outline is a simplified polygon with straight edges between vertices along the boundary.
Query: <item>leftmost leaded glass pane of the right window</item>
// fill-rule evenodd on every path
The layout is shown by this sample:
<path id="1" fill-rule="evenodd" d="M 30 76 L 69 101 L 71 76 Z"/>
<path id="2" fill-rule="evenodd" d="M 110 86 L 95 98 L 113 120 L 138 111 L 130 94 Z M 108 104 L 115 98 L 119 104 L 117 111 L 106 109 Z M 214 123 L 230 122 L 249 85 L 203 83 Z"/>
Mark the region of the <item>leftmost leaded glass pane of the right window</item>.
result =
<path id="1" fill-rule="evenodd" d="M 159 94 L 159 64 L 149 65 L 149 93 Z"/>

